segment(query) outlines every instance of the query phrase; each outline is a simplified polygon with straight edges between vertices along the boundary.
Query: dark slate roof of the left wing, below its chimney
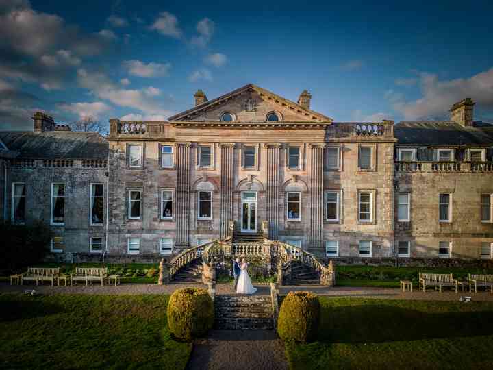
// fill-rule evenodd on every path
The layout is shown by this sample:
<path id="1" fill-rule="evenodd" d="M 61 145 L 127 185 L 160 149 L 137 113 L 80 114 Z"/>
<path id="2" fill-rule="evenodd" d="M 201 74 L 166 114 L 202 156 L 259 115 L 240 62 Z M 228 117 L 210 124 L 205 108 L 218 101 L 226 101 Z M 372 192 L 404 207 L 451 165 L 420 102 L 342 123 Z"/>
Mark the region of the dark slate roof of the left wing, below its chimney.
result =
<path id="1" fill-rule="evenodd" d="M 97 132 L 0 132 L 16 158 L 107 159 L 108 141 Z"/>

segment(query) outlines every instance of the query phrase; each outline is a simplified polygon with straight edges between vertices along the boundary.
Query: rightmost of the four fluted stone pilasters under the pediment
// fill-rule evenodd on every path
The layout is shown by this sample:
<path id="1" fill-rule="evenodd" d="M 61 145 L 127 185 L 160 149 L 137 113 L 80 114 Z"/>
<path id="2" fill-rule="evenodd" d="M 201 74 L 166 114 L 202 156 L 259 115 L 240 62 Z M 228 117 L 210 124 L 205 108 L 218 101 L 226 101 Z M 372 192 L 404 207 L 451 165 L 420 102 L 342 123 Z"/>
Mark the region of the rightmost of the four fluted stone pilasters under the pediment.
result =
<path id="1" fill-rule="evenodd" d="M 312 158 L 310 168 L 310 244 L 312 251 L 321 252 L 323 248 L 323 165 L 325 144 L 311 144 Z"/>

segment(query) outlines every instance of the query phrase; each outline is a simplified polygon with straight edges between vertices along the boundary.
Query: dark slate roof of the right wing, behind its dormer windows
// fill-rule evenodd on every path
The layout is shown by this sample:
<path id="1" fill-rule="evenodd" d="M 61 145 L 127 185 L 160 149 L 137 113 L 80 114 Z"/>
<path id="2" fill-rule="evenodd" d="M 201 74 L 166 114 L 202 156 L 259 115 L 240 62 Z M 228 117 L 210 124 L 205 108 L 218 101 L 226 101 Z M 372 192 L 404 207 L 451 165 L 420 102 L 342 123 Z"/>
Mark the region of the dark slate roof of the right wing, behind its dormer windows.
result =
<path id="1" fill-rule="evenodd" d="M 453 121 L 399 122 L 394 126 L 397 145 L 493 145 L 493 125 L 475 122 L 463 127 Z"/>

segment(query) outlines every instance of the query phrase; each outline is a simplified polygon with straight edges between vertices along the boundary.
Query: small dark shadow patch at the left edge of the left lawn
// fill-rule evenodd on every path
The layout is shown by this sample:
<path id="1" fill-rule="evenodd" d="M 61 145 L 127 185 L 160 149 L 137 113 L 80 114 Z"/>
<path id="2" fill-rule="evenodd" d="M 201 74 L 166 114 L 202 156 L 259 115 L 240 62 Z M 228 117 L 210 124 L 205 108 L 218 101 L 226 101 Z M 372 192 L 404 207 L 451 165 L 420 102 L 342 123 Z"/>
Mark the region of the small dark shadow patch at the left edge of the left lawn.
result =
<path id="1" fill-rule="evenodd" d="M 23 300 L 0 301 L 0 322 L 48 316 L 50 314 L 58 314 L 64 310 L 62 306 L 57 304 L 36 299 L 36 297 L 28 297 Z"/>

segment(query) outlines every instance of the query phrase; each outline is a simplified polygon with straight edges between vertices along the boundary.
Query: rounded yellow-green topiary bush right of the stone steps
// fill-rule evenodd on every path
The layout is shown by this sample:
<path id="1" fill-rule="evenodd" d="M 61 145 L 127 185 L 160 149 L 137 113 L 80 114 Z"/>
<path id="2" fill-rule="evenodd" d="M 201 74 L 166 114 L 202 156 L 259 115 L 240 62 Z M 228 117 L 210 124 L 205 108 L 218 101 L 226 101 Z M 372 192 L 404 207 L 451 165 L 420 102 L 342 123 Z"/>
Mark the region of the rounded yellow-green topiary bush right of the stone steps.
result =
<path id="1" fill-rule="evenodd" d="M 311 341 L 316 336 L 320 301 L 312 292 L 290 292 L 284 298 L 277 319 L 277 334 L 284 341 Z"/>

